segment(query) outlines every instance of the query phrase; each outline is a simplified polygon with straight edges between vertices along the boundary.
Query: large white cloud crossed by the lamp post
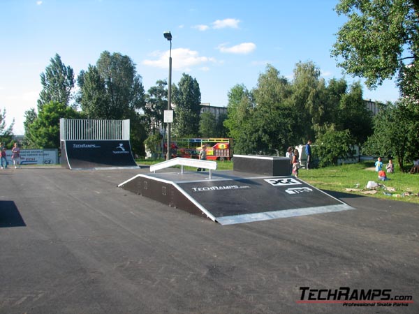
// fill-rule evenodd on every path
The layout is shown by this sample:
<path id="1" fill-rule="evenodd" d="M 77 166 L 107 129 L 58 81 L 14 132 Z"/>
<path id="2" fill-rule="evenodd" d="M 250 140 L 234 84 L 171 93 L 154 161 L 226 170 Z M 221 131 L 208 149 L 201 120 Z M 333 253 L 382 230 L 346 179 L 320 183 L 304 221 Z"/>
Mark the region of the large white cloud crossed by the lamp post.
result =
<path id="1" fill-rule="evenodd" d="M 156 53 L 154 52 L 154 55 Z M 169 52 L 159 52 L 156 60 L 144 60 L 142 64 L 146 66 L 155 66 L 157 68 L 168 68 Z M 173 70 L 191 70 L 193 66 L 201 66 L 208 62 L 216 62 L 211 57 L 201 57 L 197 51 L 186 48 L 177 48 L 172 50 L 172 68 Z"/>

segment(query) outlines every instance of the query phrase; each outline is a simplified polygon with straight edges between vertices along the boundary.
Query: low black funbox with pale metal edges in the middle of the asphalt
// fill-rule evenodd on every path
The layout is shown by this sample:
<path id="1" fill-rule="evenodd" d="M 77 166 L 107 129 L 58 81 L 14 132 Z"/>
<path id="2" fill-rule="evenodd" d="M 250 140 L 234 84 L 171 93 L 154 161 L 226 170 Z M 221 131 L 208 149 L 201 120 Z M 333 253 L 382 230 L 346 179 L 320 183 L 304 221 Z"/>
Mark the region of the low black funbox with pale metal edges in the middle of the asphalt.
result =
<path id="1" fill-rule="evenodd" d="M 191 160 L 190 165 L 199 167 L 200 161 Z M 353 209 L 289 175 L 258 175 L 235 170 L 184 172 L 183 167 L 180 172 L 171 170 L 173 172 L 138 174 L 119 187 L 170 207 L 206 215 L 221 225 Z M 278 172 L 277 168 L 275 171 Z M 289 161 L 284 163 L 284 172 L 288 171 Z"/>

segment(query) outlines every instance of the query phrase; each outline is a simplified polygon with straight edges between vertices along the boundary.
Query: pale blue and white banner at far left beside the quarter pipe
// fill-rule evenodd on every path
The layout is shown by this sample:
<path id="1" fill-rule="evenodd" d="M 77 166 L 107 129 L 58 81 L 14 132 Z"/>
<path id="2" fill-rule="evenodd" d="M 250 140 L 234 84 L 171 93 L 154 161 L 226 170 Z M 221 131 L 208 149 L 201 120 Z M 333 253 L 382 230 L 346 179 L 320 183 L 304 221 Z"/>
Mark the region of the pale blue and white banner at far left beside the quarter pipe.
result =
<path id="1" fill-rule="evenodd" d="M 6 150 L 8 165 L 13 165 L 12 150 Z M 21 165 L 54 165 L 58 163 L 58 149 L 21 149 Z"/>

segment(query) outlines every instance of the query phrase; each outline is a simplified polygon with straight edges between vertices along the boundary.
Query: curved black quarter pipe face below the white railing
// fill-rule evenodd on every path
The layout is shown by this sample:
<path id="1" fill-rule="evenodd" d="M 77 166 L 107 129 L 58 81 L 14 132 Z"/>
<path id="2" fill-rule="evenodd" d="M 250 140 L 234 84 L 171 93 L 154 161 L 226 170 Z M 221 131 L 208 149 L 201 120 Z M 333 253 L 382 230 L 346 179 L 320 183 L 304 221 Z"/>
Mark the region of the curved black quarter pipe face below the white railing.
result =
<path id="1" fill-rule="evenodd" d="M 61 165 L 71 170 L 138 168 L 129 140 L 66 140 Z"/>

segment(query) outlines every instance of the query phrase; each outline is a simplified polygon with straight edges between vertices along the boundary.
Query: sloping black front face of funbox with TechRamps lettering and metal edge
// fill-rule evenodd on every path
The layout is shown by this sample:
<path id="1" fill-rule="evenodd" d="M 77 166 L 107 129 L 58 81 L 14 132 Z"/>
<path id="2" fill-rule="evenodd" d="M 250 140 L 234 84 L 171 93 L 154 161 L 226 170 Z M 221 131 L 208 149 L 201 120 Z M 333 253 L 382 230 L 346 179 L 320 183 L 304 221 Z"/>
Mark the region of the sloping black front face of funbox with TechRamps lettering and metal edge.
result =
<path id="1" fill-rule="evenodd" d="M 223 225 L 353 209 L 293 177 L 177 182 Z"/>

